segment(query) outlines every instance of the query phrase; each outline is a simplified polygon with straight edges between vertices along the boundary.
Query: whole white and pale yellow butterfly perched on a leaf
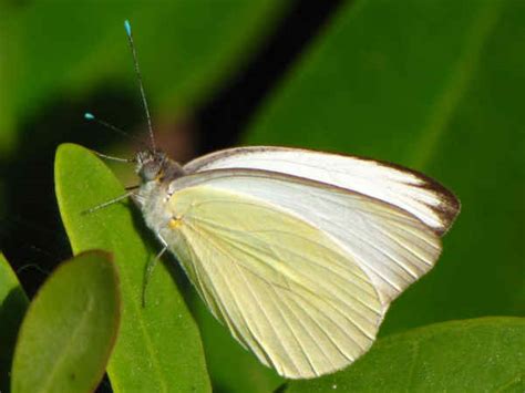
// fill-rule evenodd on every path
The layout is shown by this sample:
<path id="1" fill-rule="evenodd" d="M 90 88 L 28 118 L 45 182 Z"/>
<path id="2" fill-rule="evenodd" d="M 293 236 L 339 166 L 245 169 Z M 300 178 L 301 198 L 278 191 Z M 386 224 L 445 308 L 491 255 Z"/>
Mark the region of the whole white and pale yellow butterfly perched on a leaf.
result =
<path id="1" fill-rule="evenodd" d="M 366 353 L 391 302 L 435 265 L 457 198 L 401 166 L 300 148 L 229 148 L 183 166 L 154 147 L 142 97 L 152 147 L 133 159 L 141 184 L 128 195 L 159 256 L 172 251 L 215 318 L 285 378 Z"/>

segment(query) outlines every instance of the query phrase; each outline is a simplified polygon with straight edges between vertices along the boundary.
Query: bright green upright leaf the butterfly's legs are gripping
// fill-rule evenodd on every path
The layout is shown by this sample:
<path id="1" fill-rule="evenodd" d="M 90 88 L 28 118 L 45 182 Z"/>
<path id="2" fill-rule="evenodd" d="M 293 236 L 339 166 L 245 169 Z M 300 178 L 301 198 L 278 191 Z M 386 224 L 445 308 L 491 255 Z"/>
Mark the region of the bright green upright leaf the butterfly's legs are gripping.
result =
<path id="1" fill-rule="evenodd" d="M 122 185 L 91 152 L 64 144 L 56 152 L 55 187 L 73 251 L 111 250 L 121 273 L 122 325 L 107 369 L 113 390 L 209 391 L 197 327 L 163 263 L 147 287 L 146 307 L 141 304 L 144 269 L 159 246 L 145 242 L 141 217 L 133 216 L 136 210 L 117 203 L 85 214 L 123 195 Z"/>

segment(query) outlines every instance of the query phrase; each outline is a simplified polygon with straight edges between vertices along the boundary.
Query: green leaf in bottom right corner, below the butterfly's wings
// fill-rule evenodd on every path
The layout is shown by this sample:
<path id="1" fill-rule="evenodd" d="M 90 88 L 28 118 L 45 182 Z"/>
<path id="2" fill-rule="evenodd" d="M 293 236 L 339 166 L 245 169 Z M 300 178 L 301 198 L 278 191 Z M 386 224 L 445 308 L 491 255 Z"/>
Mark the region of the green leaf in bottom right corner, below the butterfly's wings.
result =
<path id="1" fill-rule="evenodd" d="M 332 375 L 286 392 L 523 392 L 525 318 L 482 318 L 380 339 Z"/>

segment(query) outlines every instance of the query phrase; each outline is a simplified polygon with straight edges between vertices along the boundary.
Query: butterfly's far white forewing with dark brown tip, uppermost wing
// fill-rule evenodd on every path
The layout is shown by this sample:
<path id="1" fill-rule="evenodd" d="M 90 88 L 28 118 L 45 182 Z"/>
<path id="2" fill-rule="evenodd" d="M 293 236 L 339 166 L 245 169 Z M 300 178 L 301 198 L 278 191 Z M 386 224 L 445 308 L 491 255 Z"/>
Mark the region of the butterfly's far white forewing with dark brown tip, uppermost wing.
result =
<path id="1" fill-rule="evenodd" d="M 452 193 L 423 174 L 339 154 L 275 146 L 237 147 L 199 157 L 184 168 L 187 173 L 253 168 L 309 178 L 398 206 L 439 235 L 450 228 L 460 209 Z"/>

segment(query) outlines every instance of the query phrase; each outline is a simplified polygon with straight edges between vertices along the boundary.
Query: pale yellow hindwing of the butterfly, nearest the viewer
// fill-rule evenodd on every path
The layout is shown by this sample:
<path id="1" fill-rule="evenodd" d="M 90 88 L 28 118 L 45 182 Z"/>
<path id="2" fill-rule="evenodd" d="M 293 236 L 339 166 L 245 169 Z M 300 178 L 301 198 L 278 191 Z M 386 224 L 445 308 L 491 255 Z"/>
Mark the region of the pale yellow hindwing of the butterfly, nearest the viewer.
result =
<path id="1" fill-rule="evenodd" d="M 368 350 L 385 308 L 352 256 L 277 205 L 185 183 L 161 235 L 234 338 L 291 379 L 333 372 Z"/>

